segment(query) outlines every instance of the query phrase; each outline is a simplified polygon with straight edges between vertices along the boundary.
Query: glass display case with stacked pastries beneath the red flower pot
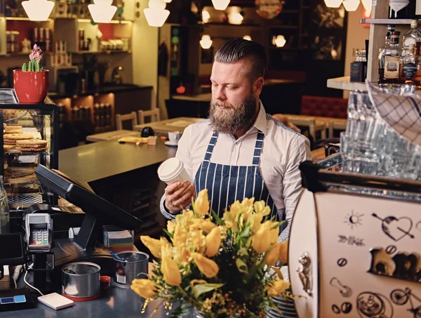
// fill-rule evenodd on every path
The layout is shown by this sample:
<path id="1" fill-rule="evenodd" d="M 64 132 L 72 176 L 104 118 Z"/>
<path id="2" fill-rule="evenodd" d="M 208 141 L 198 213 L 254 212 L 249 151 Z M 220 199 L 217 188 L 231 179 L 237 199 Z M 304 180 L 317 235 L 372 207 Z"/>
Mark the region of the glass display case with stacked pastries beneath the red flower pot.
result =
<path id="1" fill-rule="evenodd" d="M 43 189 L 36 166 L 58 168 L 59 110 L 46 98 L 40 104 L 20 104 L 11 88 L 0 89 L 0 175 L 11 211 L 32 204 L 57 204 L 57 196 Z"/>

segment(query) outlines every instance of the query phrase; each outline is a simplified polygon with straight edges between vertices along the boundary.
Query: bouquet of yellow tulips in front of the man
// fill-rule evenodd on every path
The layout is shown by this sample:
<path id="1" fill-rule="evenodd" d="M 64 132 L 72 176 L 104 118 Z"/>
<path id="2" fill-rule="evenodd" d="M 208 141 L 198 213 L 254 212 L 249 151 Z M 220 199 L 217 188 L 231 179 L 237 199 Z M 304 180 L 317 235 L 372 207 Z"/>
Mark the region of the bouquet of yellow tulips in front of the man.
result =
<path id="1" fill-rule="evenodd" d="M 287 243 L 278 243 L 282 223 L 268 218 L 265 201 L 236 201 L 222 218 L 209 211 L 208 190 L 199 192 L 192 210 L 182 211 L 164 230 L 168 239 L 140 239 L 159 261 L 149 279 L 134 279 L 131 289 L 150 300 L 162 298 L 171 317 L 195 308 L 203 317 L 265 317 L 274 296 L 292 297 L 279 260 Z M 177 304 L 177 305 L 174 305 Z"/>

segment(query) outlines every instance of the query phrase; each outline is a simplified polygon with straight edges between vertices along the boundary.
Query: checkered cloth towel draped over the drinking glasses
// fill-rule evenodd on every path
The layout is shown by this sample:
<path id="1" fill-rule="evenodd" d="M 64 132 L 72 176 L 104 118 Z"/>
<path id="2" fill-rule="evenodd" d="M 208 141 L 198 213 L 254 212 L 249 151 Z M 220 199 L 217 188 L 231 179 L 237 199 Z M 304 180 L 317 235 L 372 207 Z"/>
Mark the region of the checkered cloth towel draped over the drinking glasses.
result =
<path id="1" fill-rule="evenodd" d="M 387 124 L 410 142 L 421 146 L 421 96 L 392 95 L 367 81 L 368 95 Z"/>

